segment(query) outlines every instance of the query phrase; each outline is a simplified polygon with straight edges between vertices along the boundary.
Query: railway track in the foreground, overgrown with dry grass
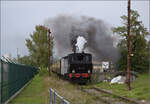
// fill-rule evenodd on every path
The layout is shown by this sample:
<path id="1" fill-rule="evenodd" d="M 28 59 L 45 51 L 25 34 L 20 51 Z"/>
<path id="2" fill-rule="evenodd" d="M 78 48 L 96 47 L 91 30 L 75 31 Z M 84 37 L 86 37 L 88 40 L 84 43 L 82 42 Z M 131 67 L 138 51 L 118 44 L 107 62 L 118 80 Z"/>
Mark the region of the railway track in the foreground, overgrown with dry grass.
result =
<path id="1" fill-rule="evenodd" d="M 92 87 L 90 89 L 78 87 L 78 89 L 93 96 L 94 100 L 97 100 L 97 104 L 142 104 L 141 102 L 115 95 L 97 87 Z"/>

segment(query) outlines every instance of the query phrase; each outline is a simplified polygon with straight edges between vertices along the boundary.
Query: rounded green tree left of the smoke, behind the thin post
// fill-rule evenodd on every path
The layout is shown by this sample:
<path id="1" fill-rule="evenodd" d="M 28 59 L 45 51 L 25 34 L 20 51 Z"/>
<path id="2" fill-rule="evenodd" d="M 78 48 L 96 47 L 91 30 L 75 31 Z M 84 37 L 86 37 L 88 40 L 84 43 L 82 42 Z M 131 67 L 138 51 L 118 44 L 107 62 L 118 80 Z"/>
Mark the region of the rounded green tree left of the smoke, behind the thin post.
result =
<path id="1" fill-rule="evenodd" d="M 48 66 L 48 38 L 47 30 L 40 25 L 35 27 L 35 32 L 30 34 L 31 39 L 26 39 L 26 46 L 29 50 L 32 63 L 36 66 Z M 52 56 L 53 37 L 50 37 L 50 50 Z"/>

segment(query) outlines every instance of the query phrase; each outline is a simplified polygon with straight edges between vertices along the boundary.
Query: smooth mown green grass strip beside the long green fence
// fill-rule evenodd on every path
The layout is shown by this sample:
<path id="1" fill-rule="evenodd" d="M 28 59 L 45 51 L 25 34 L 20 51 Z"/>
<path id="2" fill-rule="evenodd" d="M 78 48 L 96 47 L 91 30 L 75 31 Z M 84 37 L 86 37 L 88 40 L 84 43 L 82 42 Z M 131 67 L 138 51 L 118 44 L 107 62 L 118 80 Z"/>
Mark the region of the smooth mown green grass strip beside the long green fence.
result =
<path id="1" fill-rule="evenodd" d="M 9 104 L 45 104 L 44 77 L 36 75 L 32 82 Z"/>

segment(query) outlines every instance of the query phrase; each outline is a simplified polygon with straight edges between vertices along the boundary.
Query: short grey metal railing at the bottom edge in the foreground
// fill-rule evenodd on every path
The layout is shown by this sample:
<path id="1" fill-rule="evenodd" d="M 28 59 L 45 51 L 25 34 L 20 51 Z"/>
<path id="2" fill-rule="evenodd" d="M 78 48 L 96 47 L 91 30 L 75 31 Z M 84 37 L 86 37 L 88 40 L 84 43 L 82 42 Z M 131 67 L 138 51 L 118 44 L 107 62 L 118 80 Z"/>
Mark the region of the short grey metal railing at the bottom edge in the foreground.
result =
<path id="1" fill-rule="evenodd" d="M 62 96 L 60 96 L 52 88 L 50 88 L 49 103 L 50 104 L 70 104 L 70 102 L 68 102 L 66 99 L 64 99 Z"/>

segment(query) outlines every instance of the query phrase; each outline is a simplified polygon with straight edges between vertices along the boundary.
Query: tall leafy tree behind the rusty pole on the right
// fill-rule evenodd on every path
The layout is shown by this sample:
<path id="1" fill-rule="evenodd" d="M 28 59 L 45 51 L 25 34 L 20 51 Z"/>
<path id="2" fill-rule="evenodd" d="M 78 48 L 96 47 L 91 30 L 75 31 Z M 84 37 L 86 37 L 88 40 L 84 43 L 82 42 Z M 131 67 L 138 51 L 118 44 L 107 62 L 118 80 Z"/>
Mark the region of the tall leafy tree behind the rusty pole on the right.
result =
<path id="1" fill-rule="evenodd" d="M 142 21 L 139 21 L 139 14 L 135 10 L 131 10 L 131 70 L 144 72 L 148 71 L 148 42 L 146 36 L 148 31 L 144 28 Z M 113 32 L 119 34 L 122 39 L 118 43 L 120 51 L 120 60 L 117 68 L 120 70 L 127 69 L 127 20 L 126 15 L 121 16 L 123 26 L 113 28 Z"/>

